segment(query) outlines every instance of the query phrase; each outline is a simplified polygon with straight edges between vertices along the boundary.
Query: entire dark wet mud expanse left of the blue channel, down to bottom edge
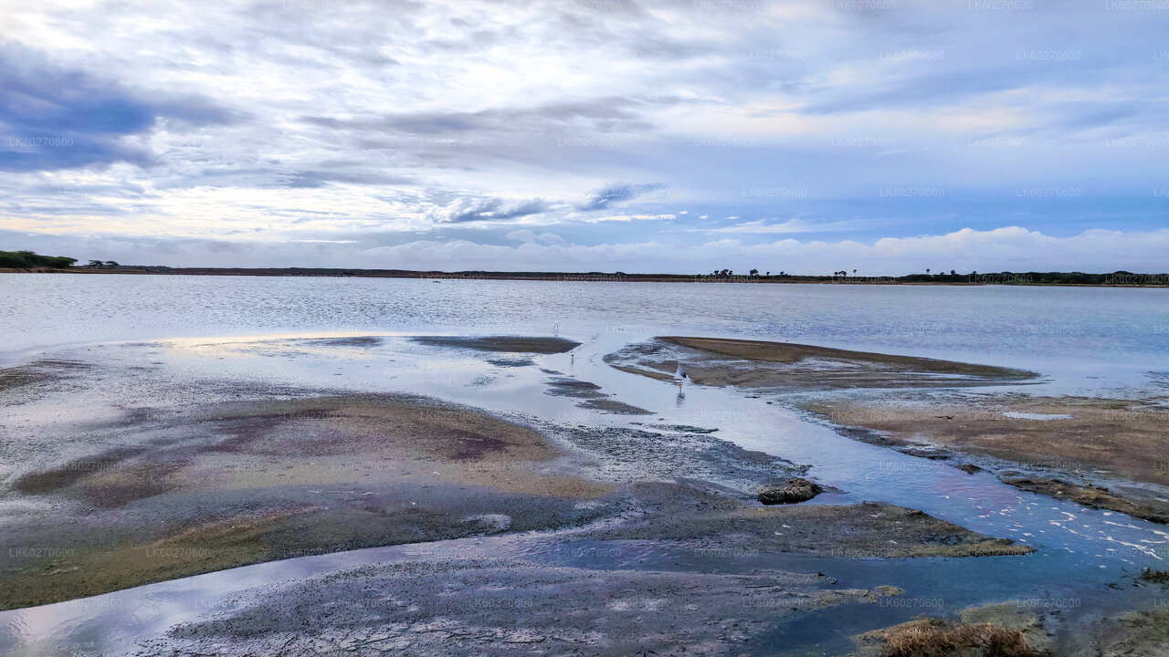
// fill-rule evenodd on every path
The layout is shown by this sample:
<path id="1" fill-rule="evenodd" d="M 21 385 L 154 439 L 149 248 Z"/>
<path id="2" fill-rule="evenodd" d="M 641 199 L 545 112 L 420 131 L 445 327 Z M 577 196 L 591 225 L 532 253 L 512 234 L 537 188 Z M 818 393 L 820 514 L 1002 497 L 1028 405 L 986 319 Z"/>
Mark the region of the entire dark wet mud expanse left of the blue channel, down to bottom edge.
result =
<path id="1" fill-rule="evenodd" d="M 572 348 L 525 340 L 443 346 L 512 354 L 502 367 Z M 54 367 L 26 367 L 2 393 L 88 394 L 92 372 L 79 365 L 68 385 L 46 388 L 61 381 Z M 547 374 L 546 394 L 621 408 L 592 383 Z M 724 441 L 717 427 L 558 426 L 407 395 L 224 389 L 236 399 L 63 417 L 37 437 L 43 451 L 18 455 L 6 436 L 6 456 L 19 458 L 5 459 L 0 492 L 0 606 L 413 545 L 408 556 L 249 592 L 138 653 L 768 653 L 789 623 L 830 630 L 838 618 L 817 614 L 915 615 L 912 600 L 895 602 L 915 582 L 858 582 L 832 560 L 1035 558 L 888 504 L 763 506 L 760 487 L 807 469 Z M 511 547 L 473 542 L 503 539 Z M 887 643 L 867 637 L 857 650 Z"/>

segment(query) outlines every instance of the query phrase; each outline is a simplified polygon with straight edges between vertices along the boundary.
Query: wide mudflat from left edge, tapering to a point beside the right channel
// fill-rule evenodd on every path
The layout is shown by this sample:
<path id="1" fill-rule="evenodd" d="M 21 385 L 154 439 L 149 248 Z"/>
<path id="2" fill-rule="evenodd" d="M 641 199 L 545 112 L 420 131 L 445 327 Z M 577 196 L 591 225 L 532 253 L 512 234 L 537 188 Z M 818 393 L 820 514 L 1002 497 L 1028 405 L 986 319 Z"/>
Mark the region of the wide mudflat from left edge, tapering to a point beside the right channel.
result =
<path id="1" fill-rule="evenodd" d="M 43 369 L 26 372 L 53 367 Z M 84 381 L 53 394 L 84 396 Z M 722 544 L 727 526 L 742 525 L 754 532 L 750 549 L 765 552 L 1029 551 L 899 507 L 762 509 L 761 486 L 807 469 L 715 429 L 556 426 L 408 395 L 282 389 L 297 399 L 279 400 L 223 388 L 244 399 L 64 419 L 53 434 L 67 437 L 68 458 L 26 461 L 34 452 L 8 444 L 29 465 L 0 490 L 0 504 L 21 510 L 0 532 L 0 608 L 310 554 L 597 523 L 632 523 L 629 532 L 655 541 Z M 34 382 L 20 392 L 11 399 L 37 397 Z M 777 523 L 801 528 L 779 541 Z M 900 547 L 881 549 L 891 541 Z"/>

